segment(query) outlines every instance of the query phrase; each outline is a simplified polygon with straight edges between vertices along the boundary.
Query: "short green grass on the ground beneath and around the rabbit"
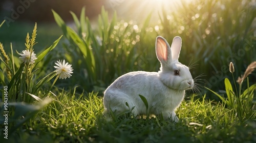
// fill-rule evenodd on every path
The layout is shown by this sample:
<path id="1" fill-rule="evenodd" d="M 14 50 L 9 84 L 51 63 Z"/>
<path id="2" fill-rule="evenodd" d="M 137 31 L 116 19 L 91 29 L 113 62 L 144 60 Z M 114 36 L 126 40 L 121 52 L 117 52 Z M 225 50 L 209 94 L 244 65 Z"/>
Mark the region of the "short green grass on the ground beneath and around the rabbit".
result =
<path id="1" fill-rule="evenodd" d="M 178 124 L 134 118 L 102 116 L 102 98 L 97 94 L 58 96 L 28 123 L 10 142 L 254 142 L 255 121 L 239 122 L 225 105 L 187 97 L 178 108 Z M 2 137 L 2 136 L 1 136 Z M 2 138 L 1 138 L 2 139 Z"/>

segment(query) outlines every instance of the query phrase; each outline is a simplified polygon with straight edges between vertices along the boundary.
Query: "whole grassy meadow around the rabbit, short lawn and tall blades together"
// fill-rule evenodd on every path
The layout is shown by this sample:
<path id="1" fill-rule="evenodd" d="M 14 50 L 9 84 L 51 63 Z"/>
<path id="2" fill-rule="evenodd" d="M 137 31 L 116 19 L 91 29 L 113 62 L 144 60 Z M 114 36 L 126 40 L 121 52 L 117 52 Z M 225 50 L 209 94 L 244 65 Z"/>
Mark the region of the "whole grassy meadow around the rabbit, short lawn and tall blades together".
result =
<path id="1" fill-rule="evenodd" d="M 142 22 L 102 7 L 92 23 L 83 8 L 71 12 L 75 26 L 52 13 L 61 34 L 49 34 L 51 44 L 39 23 L 17 38 L 25 45 L 0 44 L 1 142 L 256 142 L 253 1 L 181 1 Z M 103 91 L 117 77 L 159 70 L 158 35 L 182 38 L 179 62 L 196 78 L 176 111 L 180 121 L 103 116 Z M 58 62 L 71 75 L 59 74 Z"/>

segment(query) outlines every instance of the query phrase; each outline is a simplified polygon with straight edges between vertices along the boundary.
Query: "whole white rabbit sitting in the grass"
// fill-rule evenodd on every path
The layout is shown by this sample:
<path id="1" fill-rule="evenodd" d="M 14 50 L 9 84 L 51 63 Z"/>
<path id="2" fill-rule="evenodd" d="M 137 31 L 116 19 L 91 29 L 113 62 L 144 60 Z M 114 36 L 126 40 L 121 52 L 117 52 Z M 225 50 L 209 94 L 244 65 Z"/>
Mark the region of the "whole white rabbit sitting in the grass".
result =
<path id="1" fill-rule="evenodd" d="M 161 63 L 158 72 L 136 71 L 117 78 L 104 91 L 104 112 L 111 110 L 120 113 L 131 110 L 137 115 L 161 115 L 165 120 L 172 118 L 178 122 L 175 109 L 184 98 L 185 90 L 192 89 L 194 80 L 189 68 L 178 62 L 181 38 L 175 37 L 170 47 L 167 41 L 156 38 L 156 55 Z M 148 102 L 148 112 L 142 99 Z M 126 105 L 128 103 L 129 107 Z"/>

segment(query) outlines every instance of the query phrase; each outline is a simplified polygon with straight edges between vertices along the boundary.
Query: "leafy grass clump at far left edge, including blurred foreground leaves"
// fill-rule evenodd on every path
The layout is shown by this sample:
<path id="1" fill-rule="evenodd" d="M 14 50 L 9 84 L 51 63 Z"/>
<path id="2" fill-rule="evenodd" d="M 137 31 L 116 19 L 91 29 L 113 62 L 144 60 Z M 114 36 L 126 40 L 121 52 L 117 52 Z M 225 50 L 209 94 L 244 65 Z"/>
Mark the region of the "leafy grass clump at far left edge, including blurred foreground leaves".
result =
<path id="1" fill-rule="evenodd" d="M 51 89 L 45 89 L 49 84 L 49 81 L 56 76 L 56 72 L 51 72 L 45 77 L 38 77 L 38 63 L 40 63 L 44 57 L 55 48 L 60 38 L 57 39 L 49 48 L 42 51 L 36 58 L 32 59 L 32 54 L 36 44 L 36 28 L 35 24 L 31 37 L 29 33 L 25 39 L 26 50 L 29 54 L 22 55 L 20 58 L 14 56 L 11 44 L 11 54 L 5 52 L 4 46 L 0 43 L 0 61 L 1 61 L 1 113 L 8 112 L 8 117 L 4 117 L 6 114 L 1 114 L 0 123 L 4 125 L 6 119 L 8 123 L 9 134 L 15 133 L 24 123 L 31 122 L 31 119 L 37 115 L 37 113 L 49 104 L 52 99 L 48 97 L 48 93 Z M 23 51 L 23 53 L 25 53 Z M 21 58 L 22 57 L 22 58 Z M 27 59 L 28 58 L 28 59 Z M 26 62 L 26 60 L 28 62 Z M 25 60 L 25 61 L 24 61 Z M 44 72 L 44 71 L 41 71 Z M 45 72 L 44 72 L 45 73 Z M 53 86 L 54 82 L 52 83 Z M 6 126 L 1 127 L 1 130 Z"/>

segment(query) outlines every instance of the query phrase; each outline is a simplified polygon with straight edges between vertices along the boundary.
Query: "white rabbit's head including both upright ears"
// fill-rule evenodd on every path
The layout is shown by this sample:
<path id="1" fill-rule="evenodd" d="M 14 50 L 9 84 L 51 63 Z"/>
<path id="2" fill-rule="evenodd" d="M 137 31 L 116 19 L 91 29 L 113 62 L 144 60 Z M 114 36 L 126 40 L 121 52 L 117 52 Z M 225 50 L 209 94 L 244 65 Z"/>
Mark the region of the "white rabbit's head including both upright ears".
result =
<path id="1" fill-rule="evenodd" d="M 170 89 L 184 91 L 192 89 L 194 80 L 189 68 L 178 59 L 181 50 L 181 38 L 175 37 L 172 46 L 161 36 L 156 38 L 157 59 L 161 63 L 159 78 Z"/>

